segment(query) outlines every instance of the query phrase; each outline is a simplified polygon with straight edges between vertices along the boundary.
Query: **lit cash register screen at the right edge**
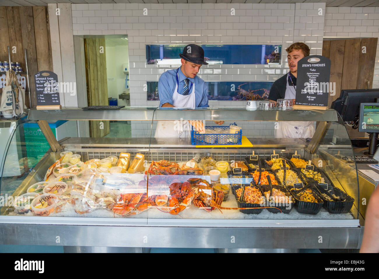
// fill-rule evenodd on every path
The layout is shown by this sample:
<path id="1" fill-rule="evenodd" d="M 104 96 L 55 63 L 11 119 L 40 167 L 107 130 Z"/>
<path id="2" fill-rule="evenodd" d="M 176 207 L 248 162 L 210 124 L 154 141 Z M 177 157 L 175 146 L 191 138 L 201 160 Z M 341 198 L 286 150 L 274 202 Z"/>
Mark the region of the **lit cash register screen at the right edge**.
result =
<path id="1" fill-rule="evenodd" d="M 359 132 L 379 132 L 379 103 L 361 103 L 359 110 Z"/>

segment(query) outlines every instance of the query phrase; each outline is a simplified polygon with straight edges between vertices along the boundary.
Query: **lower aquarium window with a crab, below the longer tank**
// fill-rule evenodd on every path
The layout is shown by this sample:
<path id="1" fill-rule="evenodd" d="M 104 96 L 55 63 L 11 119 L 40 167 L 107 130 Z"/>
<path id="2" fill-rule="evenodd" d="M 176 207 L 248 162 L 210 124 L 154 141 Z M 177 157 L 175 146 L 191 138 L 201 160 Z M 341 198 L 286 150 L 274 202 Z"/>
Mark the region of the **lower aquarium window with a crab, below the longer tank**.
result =
<path id="1" fill-rule="evenodd" d="M 268 100 L 273 81 L 206 81 L 210 101 Z M 158 82 L 147 82 L 147 101 L 159 101 Z"/>

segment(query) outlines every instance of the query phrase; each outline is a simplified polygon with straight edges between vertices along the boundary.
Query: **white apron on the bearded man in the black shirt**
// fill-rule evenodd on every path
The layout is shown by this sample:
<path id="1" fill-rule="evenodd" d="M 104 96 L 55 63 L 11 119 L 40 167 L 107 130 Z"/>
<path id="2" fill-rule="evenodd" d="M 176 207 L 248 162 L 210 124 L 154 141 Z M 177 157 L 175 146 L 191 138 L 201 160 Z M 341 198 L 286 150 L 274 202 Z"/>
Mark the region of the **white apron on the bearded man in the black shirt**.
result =
<path id="1" fill-rule="evenodd" d="M 288 73 L 288 76 L 290 74 Z M 296 88 L 288 84 L 285 89 L 285 99 L 296 98 Z M 313 121 L 279 121 L 278 128 L 275 129 L 276 138 L 312 138 L 315 134 Z"/>

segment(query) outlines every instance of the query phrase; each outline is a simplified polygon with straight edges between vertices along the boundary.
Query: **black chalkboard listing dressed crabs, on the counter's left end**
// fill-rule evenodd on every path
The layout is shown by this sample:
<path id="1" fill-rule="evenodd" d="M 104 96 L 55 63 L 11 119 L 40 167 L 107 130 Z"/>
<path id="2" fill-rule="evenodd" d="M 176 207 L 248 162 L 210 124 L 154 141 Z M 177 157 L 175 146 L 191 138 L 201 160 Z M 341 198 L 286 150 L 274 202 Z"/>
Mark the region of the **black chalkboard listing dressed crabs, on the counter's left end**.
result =
<path id="1" fill-rule="evenodd" d="M 50 71 L 39 71 L 34 75 L 37 106 L 60 105 L 58 76 Z"/>

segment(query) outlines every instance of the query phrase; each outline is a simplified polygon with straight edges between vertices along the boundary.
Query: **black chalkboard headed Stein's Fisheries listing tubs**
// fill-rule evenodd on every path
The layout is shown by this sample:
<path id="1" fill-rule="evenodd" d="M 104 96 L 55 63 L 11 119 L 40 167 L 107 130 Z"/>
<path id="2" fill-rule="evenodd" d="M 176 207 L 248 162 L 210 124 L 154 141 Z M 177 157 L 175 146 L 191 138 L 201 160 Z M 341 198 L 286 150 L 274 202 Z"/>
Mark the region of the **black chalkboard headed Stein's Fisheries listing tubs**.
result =
<path id="1" fill-rule="evenodd" d="M 328 106 L 330 60 L 310 55 L 298 61 L 296 105 Z"/>

